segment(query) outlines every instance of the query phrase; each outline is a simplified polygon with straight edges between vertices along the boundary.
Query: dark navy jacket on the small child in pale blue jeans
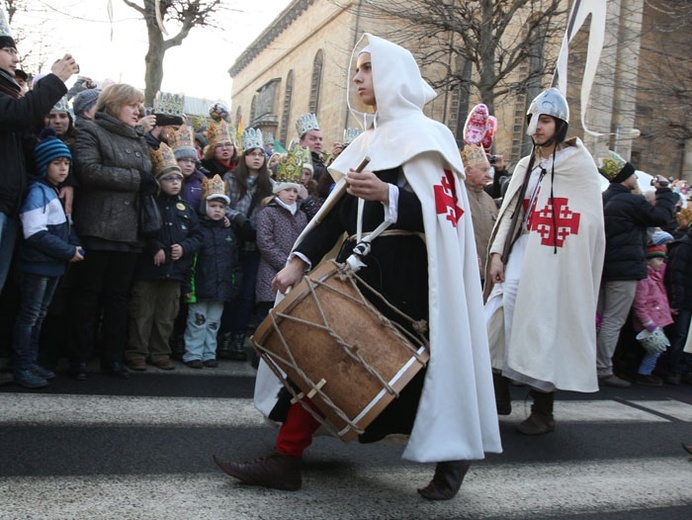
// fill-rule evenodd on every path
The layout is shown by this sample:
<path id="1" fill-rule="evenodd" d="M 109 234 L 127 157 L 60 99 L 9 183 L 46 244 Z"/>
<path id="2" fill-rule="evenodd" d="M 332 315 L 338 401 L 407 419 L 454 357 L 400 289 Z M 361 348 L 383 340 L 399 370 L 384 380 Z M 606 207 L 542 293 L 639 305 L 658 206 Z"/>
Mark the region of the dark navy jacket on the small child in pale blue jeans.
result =
<path id="1" fill-rule="evenodd" d="M 201 218 L 202 245 L 192 268 L 190 302 L 229 302 L 238 294 L 241 267 L 238 241 L 223 220 Z"/>

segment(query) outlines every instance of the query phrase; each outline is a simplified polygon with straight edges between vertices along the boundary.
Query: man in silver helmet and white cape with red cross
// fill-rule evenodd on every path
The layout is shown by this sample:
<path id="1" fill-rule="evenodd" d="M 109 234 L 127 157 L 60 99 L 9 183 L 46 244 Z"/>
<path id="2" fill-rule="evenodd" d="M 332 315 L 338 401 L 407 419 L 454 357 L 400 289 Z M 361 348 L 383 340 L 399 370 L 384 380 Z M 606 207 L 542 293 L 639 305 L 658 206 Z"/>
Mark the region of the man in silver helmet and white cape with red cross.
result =
<path id="1" fill-rule="evenodd" d="M 596 303 L 604 252 L 598 170 L 554 88 L 528 113 L 533 152 L 517 164 L 488 249 L 486 319 L 498 413 L 509 380 L 531 388 L 527 435 L 555 428 L 557 389 L 596 392 Z"/>

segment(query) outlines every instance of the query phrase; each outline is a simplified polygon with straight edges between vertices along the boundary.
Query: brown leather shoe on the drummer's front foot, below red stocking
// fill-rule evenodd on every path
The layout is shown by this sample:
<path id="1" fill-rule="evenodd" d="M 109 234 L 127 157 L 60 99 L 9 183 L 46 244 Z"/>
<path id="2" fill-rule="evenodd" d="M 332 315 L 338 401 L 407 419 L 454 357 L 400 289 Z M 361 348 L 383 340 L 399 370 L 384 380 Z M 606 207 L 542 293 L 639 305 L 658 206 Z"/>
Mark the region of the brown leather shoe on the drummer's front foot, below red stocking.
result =
<path id="1" fill-rule="evenodd" d="M 214 462 L 228 475 L 251 486 L 296 491 L 302 485 L 300 458 L 276 451 L 249 462 L 223 462 L 214 455 Z"/>

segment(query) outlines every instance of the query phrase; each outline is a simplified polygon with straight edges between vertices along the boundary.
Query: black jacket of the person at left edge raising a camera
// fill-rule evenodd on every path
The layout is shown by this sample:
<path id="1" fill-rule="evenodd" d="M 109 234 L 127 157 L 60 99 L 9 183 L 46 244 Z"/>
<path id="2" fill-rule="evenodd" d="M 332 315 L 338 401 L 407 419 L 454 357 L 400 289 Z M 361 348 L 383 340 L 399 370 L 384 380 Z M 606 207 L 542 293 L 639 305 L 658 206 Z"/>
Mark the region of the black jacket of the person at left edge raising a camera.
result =
<path id="1" fill-rule="evenodd" d="M 11 81 L 6 72 L 0 73 L 0 82 L 8 88 Z M 20 99 L 0 92 L 0 213 L 15 216 L 26 190 L 23 136 L 43 124 L 43 117 L 65 92 L 67 87 L 55 74 L 42 78 Z"/>

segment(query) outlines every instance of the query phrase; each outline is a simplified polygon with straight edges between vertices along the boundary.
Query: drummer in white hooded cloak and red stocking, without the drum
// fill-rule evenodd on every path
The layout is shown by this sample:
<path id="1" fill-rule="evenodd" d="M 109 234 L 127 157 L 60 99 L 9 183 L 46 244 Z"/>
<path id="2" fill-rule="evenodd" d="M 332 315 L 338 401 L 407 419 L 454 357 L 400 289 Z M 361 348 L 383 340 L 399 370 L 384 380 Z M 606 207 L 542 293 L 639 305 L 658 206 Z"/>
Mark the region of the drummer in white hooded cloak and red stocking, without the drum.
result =
<path id="1" fill-rule="evenodd" d="M 319 263 L 344 231 L 354 233 L 359 198 L 365 200 L 363 231 L 372 231 L 385 219 L 391 222 L 390 229 L 412 231 L 403 237 L 375 238 L 358 274 L 368 283 L 380 277 L 379 290 L 392 303 L 415 319 L 422 313 L 429 322 L 430 362 L 420 372 L 403 457 L 438 463 L 433 480 L 418 491 L 428 499 L 449 499 L 459 490 L 470 460 L 501 451 L 463 166 L 449 129 L 423 114 L 435 92 L 421 77 L 410 52 L 365 35 L 354 51 L 351 70 L 356 75 L 349 85 L 349 108 L 365 131 L 330 168 L 337 181 L 332 196 L 345 182 L 348 191 L 331 212 L 321 211 L 308 224 L 275 282 L 285 292 L 298 283 L 304 270 Z M 371 159 L 367 171 L 354 172 L 366 156 Z M 321 217 L 324 220 L 317 224 Z M 416 236 L 423 232 L 425 240 Z M 347 241 L 337 260 L 350 256 L 354 245 Z M 419 289 L 422 294 L 416 293 Z M 276 401 L 275 381 L 261 365 L 255 402 L 266 415 Z M 415 384 L 412 381 L 404 392 Z M 404 392 L 390 406 L 399 404 Z M 217 463 L 245 483 L 298 489 L 300 457 L 319 426 L 302 406 L 293 405 L 274 454 L 250 463 Z M 371 427 L 361 441 L 377 440 L 386 433 L 373 433 Z"/>

